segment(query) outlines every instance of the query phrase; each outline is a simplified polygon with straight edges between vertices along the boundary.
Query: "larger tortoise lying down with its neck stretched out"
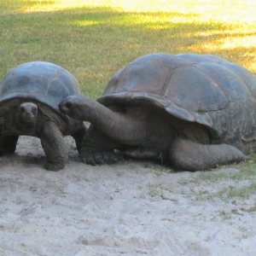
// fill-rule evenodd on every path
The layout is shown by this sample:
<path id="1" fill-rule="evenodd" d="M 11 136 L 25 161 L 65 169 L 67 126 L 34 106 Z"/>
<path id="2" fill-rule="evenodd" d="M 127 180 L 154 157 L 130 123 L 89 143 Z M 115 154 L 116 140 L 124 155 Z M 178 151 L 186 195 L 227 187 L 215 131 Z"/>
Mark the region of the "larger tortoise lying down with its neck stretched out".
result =
<path id="1" fill-rule="evenodd" d="M 61 111 L 91 123 L 80 157 L 120 152 L 195 171 L 256 151 L 256 77 L 216 55 L 143 55 L 109 80 L 102 97 L 68 96 Z"/>

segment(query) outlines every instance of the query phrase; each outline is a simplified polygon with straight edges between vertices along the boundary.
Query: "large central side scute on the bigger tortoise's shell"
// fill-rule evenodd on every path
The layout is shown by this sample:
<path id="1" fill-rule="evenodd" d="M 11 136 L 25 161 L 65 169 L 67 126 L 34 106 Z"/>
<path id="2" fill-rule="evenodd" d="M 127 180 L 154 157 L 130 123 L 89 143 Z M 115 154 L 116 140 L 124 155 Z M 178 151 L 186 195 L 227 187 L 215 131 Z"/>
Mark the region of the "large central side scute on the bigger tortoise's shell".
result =
<path id="1" fill-rule="evenodd" d="M 195 112 L 218 110 L 228 104 L 218 83 L 194 66 L 175 69 L 166 96 L 180 108 Z"/>

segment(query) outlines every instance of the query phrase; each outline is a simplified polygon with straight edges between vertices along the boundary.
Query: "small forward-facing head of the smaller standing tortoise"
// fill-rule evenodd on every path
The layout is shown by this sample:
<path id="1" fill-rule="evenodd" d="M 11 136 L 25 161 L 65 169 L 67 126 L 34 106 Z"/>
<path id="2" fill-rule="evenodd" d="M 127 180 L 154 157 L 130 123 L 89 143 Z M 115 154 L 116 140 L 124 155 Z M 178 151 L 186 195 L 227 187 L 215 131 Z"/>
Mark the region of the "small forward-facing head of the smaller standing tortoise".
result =
<path id="1" fill-rule="evenodd" d="M 22 128 L 32 128 L 37 124 L 38 106 L 32 102 L 24 102 L 17 109 L 18 125 Z"/>

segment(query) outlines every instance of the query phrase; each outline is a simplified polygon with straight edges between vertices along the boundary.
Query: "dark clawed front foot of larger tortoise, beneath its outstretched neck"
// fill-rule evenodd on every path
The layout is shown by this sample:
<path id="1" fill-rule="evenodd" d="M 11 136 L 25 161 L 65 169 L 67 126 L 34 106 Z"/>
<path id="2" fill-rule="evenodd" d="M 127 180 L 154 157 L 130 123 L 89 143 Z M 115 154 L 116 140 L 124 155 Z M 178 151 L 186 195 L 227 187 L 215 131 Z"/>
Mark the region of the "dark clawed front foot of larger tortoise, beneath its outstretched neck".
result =
<path id="1" fill-rule="evenodd" d="M 95 126 L 90 125 L 84 136 L 80 158 L 84 164 L 91 166 L 113 164 L 119 159 L 118 154 L 113 150 L 119 146 L 119 143 L 97 130 Z"/>

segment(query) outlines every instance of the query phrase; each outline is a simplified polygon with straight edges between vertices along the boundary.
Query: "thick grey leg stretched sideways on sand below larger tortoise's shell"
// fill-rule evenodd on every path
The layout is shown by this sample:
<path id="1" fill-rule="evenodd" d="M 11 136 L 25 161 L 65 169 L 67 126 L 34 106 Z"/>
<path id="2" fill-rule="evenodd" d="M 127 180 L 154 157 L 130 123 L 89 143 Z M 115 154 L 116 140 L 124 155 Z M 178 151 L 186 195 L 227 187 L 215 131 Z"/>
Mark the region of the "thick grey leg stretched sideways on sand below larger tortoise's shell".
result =
<path id="1" fill-rule="evenodd" d="M 186 171 L 200 171 L 246 160 L 238 148 L 227 144 L 204 145 L 175 138 L 169 150 L 174 166 Z"/>

